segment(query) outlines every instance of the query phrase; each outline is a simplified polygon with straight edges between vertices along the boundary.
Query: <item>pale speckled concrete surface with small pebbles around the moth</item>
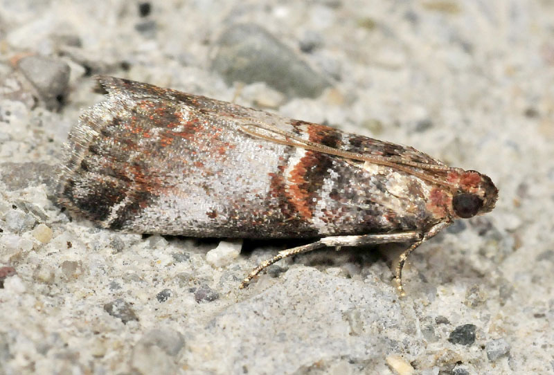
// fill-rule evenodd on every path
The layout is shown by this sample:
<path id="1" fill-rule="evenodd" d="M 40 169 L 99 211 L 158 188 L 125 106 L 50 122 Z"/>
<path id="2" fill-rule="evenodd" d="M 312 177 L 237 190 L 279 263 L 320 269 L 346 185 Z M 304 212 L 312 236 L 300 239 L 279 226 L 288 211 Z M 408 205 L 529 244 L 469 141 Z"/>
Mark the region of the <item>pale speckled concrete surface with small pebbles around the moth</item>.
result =
<path id="1" fill-rule="evenodd" d="M 0 374 L 553 374 L 553 15 L 546 0 L 0 1 Z M 405 298 L 367 248 L 239 290 L 289 244 L 123 235 L 55 205 L 96 73 L 412 145 L 488 174 L 500 199 L 411 256 Z"/>

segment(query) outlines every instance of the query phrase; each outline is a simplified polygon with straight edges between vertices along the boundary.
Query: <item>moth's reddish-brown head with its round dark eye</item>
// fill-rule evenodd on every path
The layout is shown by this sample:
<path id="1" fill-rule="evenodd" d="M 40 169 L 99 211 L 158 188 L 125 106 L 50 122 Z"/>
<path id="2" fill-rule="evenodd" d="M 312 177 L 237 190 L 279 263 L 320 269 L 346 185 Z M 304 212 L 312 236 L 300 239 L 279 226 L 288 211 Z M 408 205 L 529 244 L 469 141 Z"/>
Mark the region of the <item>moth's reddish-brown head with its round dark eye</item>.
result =
<path id="1" fill-rule="evenodd" d="M 459 175 L 458 191 L 452 196 L 452 208 L 463 219 L 492 211 L 497 203 L 498 189 L 489 176 L 476 171 Z"/>

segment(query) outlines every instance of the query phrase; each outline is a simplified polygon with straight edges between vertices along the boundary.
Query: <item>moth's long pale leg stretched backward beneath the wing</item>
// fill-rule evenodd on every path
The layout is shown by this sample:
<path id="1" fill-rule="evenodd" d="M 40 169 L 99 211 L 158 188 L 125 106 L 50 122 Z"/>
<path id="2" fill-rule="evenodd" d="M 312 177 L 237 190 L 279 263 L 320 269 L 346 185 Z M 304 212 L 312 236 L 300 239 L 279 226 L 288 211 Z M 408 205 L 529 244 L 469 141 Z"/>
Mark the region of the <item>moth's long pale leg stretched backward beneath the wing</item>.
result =
<path id="1" fill-rule="evenodd" d="M 287 250 L 280 251 L 277 255 L 271 259 L 267 259 L 265 262 L 260 264 L 258 267 L 254 268 L 247 277 L 242 280 L 240 283 L 240 289 L 248 285 L 250 280 L 253 279 L 260 271 L 264 268 L 271 266 L 275 262 L 280 261 L 280 259 L 285 259 L 287 257 L 292 257 L 296 254 L 307 253 L 312 250 L 319 248 L 324 248 L 327 246 L 336 246 L 340 248 L 341 246 L 361 246 L 361 245 L 377 245 L 377 244 L 388 244 L 391 242 L 409 242 L 409 241 L 422 241 L 421 232 L 400 232 L 400 233 L 386 233 L 386 234 L 375 234 L 375 235 L 359 235 L 359 236 L 332 236 L 324 237 L 319 241 L 312 242 L 312 244 L 307 244 L 303 246 L 297 246 L 296 248 L 289 248 Z"/>

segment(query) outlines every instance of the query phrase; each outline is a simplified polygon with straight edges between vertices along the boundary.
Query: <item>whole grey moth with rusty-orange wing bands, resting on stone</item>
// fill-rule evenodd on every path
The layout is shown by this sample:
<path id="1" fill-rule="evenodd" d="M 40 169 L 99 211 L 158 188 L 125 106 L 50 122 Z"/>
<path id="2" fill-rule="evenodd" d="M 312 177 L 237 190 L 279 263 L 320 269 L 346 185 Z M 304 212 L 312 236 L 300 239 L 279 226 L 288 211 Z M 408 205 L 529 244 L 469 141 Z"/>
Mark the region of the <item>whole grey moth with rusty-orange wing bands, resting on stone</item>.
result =
<path id="1" fill-rule="evenodd" d="M 71 129 L 59 202 L 103 228 L 305 238 L 255 268 L 326 246 L 408 243 L 490 212 L 498 190 L 412 147 L 204 96 L 100 76 L 107 98 Z"/>

